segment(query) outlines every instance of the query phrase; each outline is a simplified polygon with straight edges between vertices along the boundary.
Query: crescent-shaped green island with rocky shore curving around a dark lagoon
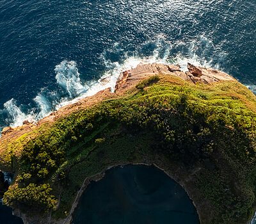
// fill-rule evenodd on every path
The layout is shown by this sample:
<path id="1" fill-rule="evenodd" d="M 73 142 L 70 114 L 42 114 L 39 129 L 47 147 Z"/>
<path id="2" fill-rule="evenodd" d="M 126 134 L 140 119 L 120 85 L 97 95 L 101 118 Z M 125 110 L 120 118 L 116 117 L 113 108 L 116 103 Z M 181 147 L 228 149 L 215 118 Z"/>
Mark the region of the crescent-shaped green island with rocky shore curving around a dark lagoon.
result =
<path id="1" fill-rule="evenodd" d="M 223 72 L 188 68 L 140 65 L 122 74 L 115 93 L 4 129 L 0 169 L 15 173 L 4 204 L 24 223 L 70 223 L 90 180 L 120 164 L 155 164 L 187 191 L 200 223 L 249 223 L 256 97 Z"/>

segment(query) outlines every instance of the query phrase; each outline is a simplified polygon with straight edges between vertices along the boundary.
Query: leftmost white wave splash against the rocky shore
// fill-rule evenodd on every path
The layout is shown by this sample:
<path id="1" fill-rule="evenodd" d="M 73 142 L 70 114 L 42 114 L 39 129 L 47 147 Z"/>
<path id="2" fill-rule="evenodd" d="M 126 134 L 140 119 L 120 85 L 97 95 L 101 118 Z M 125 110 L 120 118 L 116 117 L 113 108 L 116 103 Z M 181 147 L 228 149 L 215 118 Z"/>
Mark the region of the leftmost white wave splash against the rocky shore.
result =
<path id="1" fill-rule="evenodd" d="M 14 99 L 8 100 L 4 103 L 4 108 L 8 112 L 8 115 L 12 118 L 12 123 L 10 126 L 17 127 L 23 124 L 24 120 L 29 120 L 30 122 L 34 120 L 33 115 L 26 115 L 20 108 L 16 105 Z"/>

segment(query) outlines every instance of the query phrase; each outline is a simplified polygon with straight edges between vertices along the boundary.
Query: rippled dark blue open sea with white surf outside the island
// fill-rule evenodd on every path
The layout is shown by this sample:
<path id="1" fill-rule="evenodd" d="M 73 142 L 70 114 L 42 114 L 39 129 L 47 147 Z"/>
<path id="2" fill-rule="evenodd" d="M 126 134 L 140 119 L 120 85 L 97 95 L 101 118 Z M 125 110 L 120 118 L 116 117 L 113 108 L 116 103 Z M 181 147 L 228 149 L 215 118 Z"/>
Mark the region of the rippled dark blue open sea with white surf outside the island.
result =
<path id="1" fill-rule="evenodd" d="M 0 0 L 0 130 L 140 62 L 219 68 L 256 92 L 255 12 L 255 0 Z"/>

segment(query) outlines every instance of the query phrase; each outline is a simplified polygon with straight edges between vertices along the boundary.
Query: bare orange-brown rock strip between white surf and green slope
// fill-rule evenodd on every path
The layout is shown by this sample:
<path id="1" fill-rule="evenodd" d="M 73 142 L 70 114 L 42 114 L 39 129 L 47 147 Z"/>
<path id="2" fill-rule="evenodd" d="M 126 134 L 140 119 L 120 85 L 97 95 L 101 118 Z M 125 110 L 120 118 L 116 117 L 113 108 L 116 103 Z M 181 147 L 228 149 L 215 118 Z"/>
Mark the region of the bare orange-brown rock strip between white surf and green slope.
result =
<path id="1" fill-rule="evenodd" d="M 236 79 L 234 79 L 231 76 L 228 76 L 228 74 L 225 74 L 224 72 L 220 72 L 218 70 L 214 70 L 211 68 L 195 67 L 194 65 L 191 65 L 191 64 L 188 64 L 188 72 L 182 72 L 182 70 L 180 70 L 180 67 L 178 65 L 164 65 L 164 64 L 157 64 L 157 63 L 147 64 L 147 65 L 140 64 L 138 65 L 138 67 L 133 68 L 131 70 L 127 70 L 125 72 L 122 72 L 122 74 L 120 74 L 120 78 L 116 82 L 115 93 L 111 93 L 110 88 L 108 88 L 106 90 L 102 90 L 101 92 L 93 95 L 92 97 L 86 97 L 84 99 L 79 100 L 79 102 L 60 108 L 58 111 L 54 111 L 53 113 L 51 113 L 51 115 L 37 122 L 37 124 L 31 124 L 28 121 L 24 121 L 23 125 L 20 127 L 4 128 L 2 132 L 3 136 L 0 138 L 0 153 L 1 153 L 2 143 L 5 144 L 11 139 L 19 138 L 19 136 L 21 136 L 22 134 L 25 134 L 26 132 L 29 132 L 33 129 L 38 129 L 38 127 L 42 127 L 41 125 L 51 124 L 52 122 L 56 121 L 58 118 L 61 118 L 63 116 L 66 116 L 72 113 L 72 111 L 88 108 L 104 99 L 113 99 L 113 98 L 122 96 L 124 95 L 125 92 L 127 92 L 127 90 L 131 90 L 131 88 L 134 88 L 136 84 L 140 83 L 141 80 L 147 79 L 148 77 L 155 76 L 157 74 L 163 74 L 165 76 L 180 77 L 180 79 L 183 79 L 184 81 L 188 81 L 189 83 L 191 83 L 191 85 L 197 84 L 197 83 L 211 84 L 219 81 L 236 81 Z M 108 78 L 102 79 L 102 83 L 105 83 L 105 82 L 108 82 Z M 152 164 L 152 163 L 153 162 L 150 162 L 150 161 L 147 162 L 147 164 Z M 161 161 L 161 163 L 159 164 L 161 165 L 162 163 L 163 161 Z M 211 168 L 211 166 L 209 167 Z M 195 172 L 197 171 L 198 170 L 195 170 Z M 170 177 L 173 176 L 172 171 L 168 173 L 170 174 Z M 179 180 L 178 177 L 174 177 L 174 178 L 177 180 L 177 182 L 181 181 Z M 186 180 L 184 184 L 182 184 L 182 186 L 183 185 L 186 186 L 186 184 L 189 181 L 190 181 L 189 179 Z M 84 183 L 86 184 L 86 182 Z M 40 217 L 38 216 L 38 218 L 29 217 L 26 214 L 22 214 L 20 211 L 15 211 L 15 214 L 17 216 L 20 216 L 24 220 L 24 223 L 38 223 L 38 224 L 47 223 L 47 222 L 58 223 L 51 220 L 51 214 L 45 214 L 44 219 L 42 219 L 42 216 Z M 61 222 L 60 220 L 60 223 L 69 223 L 69 221 L 70 220 L 65 220 Z"/>

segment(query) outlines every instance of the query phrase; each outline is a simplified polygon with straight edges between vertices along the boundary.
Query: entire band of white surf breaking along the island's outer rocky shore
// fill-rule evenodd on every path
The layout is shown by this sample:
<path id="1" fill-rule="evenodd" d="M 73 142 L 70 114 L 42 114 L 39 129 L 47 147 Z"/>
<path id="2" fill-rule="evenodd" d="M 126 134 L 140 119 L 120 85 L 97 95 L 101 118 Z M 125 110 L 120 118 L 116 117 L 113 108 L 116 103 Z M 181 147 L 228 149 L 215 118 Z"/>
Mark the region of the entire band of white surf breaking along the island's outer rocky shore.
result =
<path id="1" fill-rule="evenodd" d="M 187 70 L 187 64 L 191 63 L 196 66 L 221 70 L 224 68 L 226 56 L 226 52 L 220 52 L 218 47 L 204 36 L 200 36 L 198 40 L 192 40 L 189 44 L 185 42 L 172 43 L 166 41 L 164 36 L 157 36 L 155 40 L 145 42 L 132 52 L 125 51 L 120 44 L 116 43 L 111 49 L 102 52 L 100 56 L 105 72 L 99 80 L 83 83 L 76 61 L 61 61 L 54 69 L 56 84 L 61 88 L 54 92 L 43 88 L 33 99 L 36 106 L 26 112 L 22 106 L 17 106 L 15 99 L 8 100 L 4 104 L 4 110 L 1 111 L 1 113 L 7 114 L 4 125 L 19 126 L 24 120 L 36 122 L 61 106 L 72 104 L 106 88 L 114 90 L 120 73 L 134 68 L 140 63 L 179 64 L 184 71 Z M 255 86 L 248 86 L 248 88 L 256 93 Z"/>

